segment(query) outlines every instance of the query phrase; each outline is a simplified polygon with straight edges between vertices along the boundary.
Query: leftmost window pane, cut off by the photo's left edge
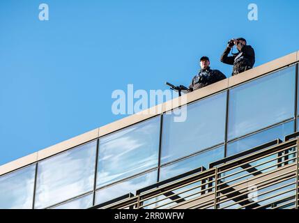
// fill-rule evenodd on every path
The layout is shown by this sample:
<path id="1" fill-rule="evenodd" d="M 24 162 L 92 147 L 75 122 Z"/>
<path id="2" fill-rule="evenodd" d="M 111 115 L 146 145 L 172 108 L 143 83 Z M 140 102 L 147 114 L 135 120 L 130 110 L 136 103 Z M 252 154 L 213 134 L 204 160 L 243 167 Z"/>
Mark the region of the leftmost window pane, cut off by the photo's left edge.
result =
<path id="1" fill-rule="evenodd" d="M 36 164 L 0 177 L 0 209 L 32 209 Z"/>

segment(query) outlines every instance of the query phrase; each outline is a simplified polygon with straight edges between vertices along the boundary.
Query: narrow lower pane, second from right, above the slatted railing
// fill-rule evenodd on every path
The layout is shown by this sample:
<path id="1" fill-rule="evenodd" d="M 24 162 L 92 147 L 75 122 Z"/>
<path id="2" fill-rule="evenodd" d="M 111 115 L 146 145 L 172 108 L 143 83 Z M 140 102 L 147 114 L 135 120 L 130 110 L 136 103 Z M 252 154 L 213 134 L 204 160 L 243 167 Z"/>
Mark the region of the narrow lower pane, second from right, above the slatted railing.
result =
<path id="1" fill-rule="evenodd" d="M 221 160 L 223 157 L 224 146 L 220 146 L 204 153 L 199 153 L 199 155 L 194 155 L 185 160 L 175 162 L 174 164 L 169 164 L 160 169 L 160 181 L 178 176 L 199 167 L 206 167 L 206 169 L 208 169 L 208 164 Z"/>

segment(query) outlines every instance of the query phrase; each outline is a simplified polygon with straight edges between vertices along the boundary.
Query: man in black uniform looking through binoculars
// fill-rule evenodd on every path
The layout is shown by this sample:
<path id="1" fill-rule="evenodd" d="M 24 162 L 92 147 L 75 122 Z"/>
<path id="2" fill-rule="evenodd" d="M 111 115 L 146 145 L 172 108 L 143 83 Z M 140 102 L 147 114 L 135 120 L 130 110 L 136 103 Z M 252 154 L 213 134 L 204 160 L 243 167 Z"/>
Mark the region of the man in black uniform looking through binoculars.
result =
<path id="1" fill-rule="evenodd" d="M 228 56 L 233 45 L 236 45 L 238 53 L 233 54 L 233 56 Z M 247 45 L 245 38 L 231 39 L 227 45 L 227 49 L 224 50 L 220 61 L 222 63 L 233 65 L 232 75 L 238 75 L 240 72 L 253 68 L 255 63 L 254 49 L 250 45 Z"/>

